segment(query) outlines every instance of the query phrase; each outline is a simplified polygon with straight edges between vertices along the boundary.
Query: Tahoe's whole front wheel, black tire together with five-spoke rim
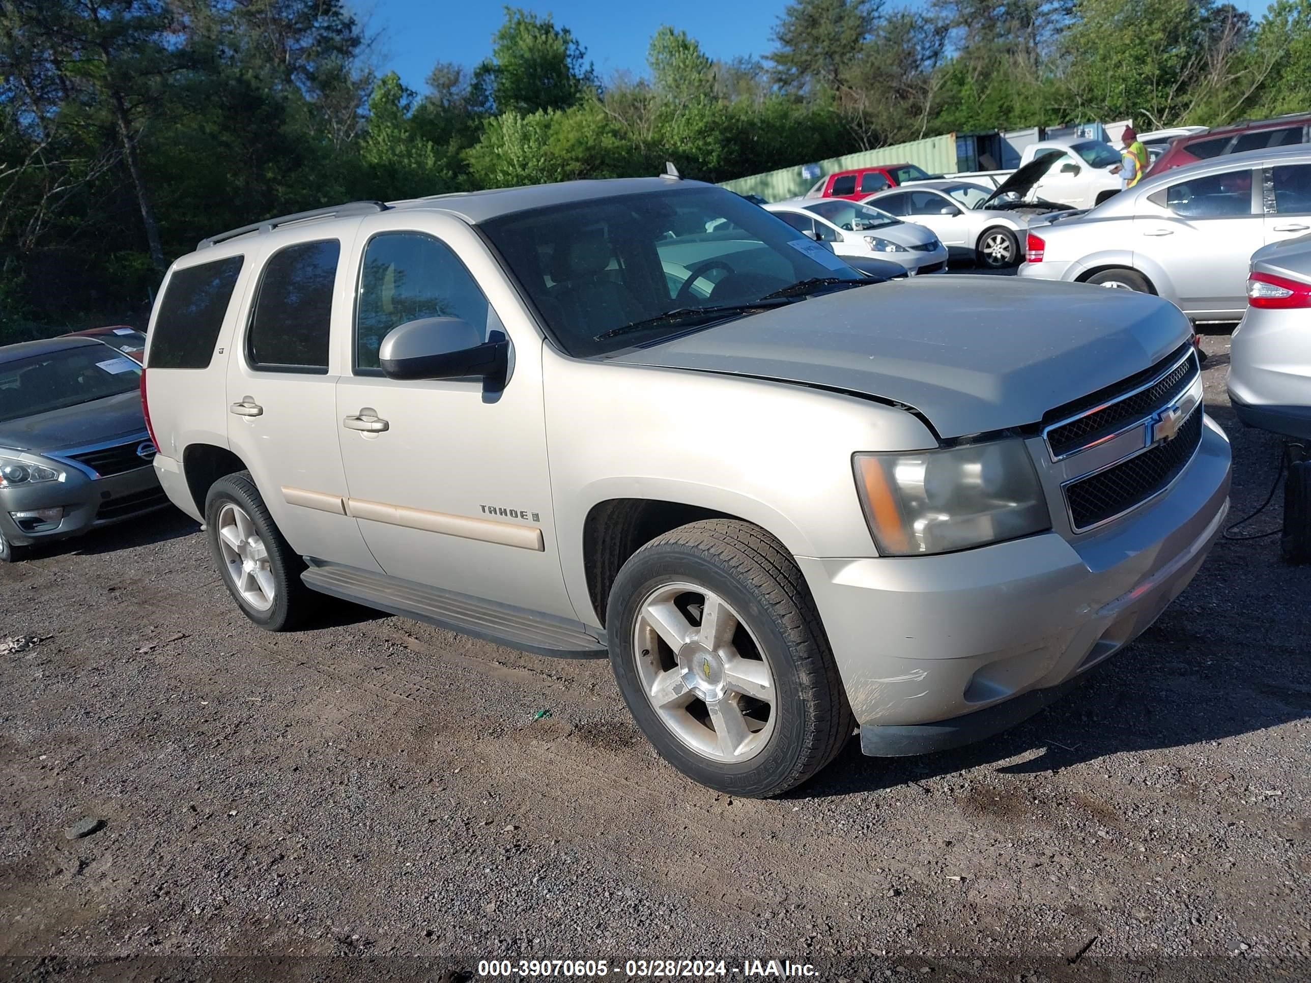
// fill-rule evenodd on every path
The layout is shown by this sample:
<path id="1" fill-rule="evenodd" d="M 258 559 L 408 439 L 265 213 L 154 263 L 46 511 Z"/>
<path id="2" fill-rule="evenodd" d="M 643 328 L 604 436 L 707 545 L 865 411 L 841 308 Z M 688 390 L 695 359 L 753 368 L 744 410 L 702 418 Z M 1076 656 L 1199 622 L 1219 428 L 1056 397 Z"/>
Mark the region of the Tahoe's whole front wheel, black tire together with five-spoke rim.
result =
<path id="1" fill-rule="evenodd" d="M 711 630 L 708 611 L 720 613 L 722 633 L 707 646 L 696 640 Z M 648 543 L 620 569 L 606 624 L 633 718 L 665 760 L 701 785 L 777 796 L 852 735 L 805 579 L 783 545 L 750 523 L 696 522 Z M 680 651 L 671 637 L 683 640 Z"/>

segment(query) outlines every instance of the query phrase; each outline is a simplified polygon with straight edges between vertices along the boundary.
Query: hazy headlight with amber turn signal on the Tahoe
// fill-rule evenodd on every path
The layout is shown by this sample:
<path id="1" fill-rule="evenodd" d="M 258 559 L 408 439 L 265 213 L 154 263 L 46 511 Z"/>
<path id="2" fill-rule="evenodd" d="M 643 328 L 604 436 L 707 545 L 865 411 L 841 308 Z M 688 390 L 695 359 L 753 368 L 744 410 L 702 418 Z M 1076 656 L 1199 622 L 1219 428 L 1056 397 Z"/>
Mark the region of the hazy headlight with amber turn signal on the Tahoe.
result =
<path id="1" fill-rule="evenodd" d="M 1021 440 L 853 460 L 865 519 L 884 556 L 948 553 L 1051 527 Z"/>

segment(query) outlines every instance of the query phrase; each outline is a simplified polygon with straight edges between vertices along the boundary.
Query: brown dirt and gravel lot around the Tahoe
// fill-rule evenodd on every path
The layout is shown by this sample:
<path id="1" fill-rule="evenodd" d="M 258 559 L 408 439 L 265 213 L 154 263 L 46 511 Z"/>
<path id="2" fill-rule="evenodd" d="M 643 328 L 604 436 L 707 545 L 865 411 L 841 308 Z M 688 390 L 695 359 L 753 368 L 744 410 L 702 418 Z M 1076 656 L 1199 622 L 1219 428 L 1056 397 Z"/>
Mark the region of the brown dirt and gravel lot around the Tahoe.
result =
<path id="1" fill-rule="evenodd" d="M 1205 343 L 1238 518 L 1277 450 L 1227 408 L 1228 337 Z M 1278 520 L 1276 501 L 1247 531 Z M 0 655 L 0 966 L 1307 979 L 1308 615 L 1311 569 L 1280 565 L 1277 540 L 1221 543 L 1151 630 L 1019 729 L 914 760 L 852 742 L 792 797 L 734 801 L 654 758 L 608 663 L 346 606 L 261 633 L 165 514 L 0 570 L 0 636 L 45 637 Z M 83 817 L 104 828 L 66 839 Z"/>

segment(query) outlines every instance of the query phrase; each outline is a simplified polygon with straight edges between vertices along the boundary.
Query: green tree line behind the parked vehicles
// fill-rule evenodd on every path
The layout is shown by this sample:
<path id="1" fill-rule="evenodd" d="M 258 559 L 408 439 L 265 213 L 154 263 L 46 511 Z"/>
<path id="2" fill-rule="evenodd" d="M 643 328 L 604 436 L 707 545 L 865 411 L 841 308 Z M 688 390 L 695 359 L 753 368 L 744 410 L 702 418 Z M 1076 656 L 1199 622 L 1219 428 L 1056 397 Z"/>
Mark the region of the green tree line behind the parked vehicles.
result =
<path id="1" fill-rule="evenodd" d="M 0 341 L 139 320 L 198 239 L 337 201 L 1311 109 L 1311 0 L 793 0 L 760 58 L 665 26 L 608 79 L 583 42 L 506 8 L 420 93 L 345 0 L 0 0 Z"/>

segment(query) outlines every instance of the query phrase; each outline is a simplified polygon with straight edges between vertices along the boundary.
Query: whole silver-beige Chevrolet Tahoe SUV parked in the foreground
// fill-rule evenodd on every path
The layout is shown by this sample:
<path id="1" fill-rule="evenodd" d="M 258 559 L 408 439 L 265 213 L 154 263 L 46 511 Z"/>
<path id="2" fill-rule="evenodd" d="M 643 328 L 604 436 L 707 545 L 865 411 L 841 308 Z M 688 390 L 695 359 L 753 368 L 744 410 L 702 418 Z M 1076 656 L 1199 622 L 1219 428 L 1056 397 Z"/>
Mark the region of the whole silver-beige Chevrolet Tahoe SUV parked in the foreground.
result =
<path id="1" fill-rule="evenodd" d="M 771 796 L 857 727 L 994 734 L 1184 590 L 1230 481 L 1190 336 L 1129 291 L 871 283 L 729 191 L 595 181 L 207 239 L 143 391 L 256 624 L 330 595 L 608 655 L 671 764 Z"/>

